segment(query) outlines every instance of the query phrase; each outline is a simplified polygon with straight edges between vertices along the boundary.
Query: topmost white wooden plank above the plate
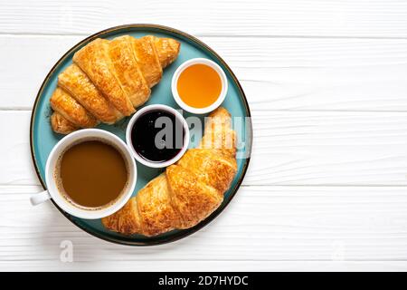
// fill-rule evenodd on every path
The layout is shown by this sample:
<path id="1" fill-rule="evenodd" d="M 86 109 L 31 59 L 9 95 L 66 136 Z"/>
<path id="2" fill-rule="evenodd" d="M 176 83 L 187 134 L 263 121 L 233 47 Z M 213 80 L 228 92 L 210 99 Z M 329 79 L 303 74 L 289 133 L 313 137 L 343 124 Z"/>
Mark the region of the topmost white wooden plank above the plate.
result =
<path id="1" fill-rule="evenodd" d="M 211 35 L 407 37 L 402 0 L 8 1 L 0 32 L 90 34 L 128 23 L 157 23 Z"/>

